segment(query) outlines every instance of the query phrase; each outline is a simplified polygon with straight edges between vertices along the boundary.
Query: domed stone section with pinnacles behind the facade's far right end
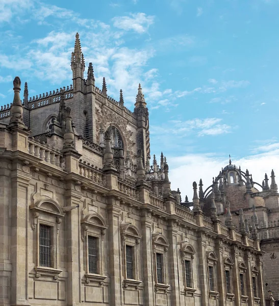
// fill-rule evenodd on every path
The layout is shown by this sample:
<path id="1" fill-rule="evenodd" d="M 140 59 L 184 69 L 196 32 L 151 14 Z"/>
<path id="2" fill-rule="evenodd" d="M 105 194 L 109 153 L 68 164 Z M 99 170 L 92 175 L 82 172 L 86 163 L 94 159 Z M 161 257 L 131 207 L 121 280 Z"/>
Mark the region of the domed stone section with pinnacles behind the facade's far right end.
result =
<path id="1" fill-rule="evenodd" d="M 205 193 L 200 182 L 200 202 L 204 213 L 210 216 L 213 193 L 218 216 L 227 227 L 260 238 L 261 249 L 265 251 L 264 290 L 267 298 L 273 295 L 279 300 L 279 194 L 273 170 L 270 186 L 268 181 L 265 174 L 262 184 L 253 182 L 248 170 L 242 171 L 230 160 Z"/>

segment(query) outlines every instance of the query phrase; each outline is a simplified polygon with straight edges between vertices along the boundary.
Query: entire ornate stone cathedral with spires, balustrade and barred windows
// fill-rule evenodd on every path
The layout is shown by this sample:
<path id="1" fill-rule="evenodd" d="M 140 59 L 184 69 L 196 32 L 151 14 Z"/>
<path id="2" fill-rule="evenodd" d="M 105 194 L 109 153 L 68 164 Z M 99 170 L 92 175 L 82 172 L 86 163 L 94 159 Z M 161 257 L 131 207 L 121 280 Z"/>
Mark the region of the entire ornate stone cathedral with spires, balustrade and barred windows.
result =
<path id="1" fill-rule="evenodd" d="M 16 77 L 0 111 L 0 305 L 263 306 L 274 173 L 259 192 L 230 162 L 182 202 L 166 157 L 150 162 L 141 86 L 133 112 L 96 87 L 78 34 L 71 69 L 60 90 L 25 83 L 22 101 Z"/>

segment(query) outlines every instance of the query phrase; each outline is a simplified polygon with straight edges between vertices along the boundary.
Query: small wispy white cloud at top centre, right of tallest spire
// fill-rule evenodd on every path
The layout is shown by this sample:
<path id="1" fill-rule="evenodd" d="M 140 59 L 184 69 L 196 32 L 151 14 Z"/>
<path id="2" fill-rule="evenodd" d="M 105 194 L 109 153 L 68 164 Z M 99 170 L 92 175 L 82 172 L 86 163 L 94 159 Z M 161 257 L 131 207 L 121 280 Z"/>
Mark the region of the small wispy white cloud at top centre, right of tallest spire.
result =
<path id="1" fill-rule="evenodd" d="M 147 32 L 149 25 L 154 23 L 155 16 L 147 16 L 144 13 L 130 14 L 130 16 L 112 18 L 115 28 L 125 31 L 135 31 L 139 34 Z"/>

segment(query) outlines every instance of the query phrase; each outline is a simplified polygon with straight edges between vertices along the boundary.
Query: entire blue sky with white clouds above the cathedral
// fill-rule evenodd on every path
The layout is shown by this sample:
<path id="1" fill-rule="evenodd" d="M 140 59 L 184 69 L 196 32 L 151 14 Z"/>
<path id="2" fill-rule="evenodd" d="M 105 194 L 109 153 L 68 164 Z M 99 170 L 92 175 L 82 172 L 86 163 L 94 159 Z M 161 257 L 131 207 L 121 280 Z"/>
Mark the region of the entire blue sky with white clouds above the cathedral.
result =
<path id="1" fill-rule="evenodd" d="M 142 84 L 151 152 L 167 156 L 173 189 L 191 197 L 229 154 L 261 182 L 279 171 L 278 13 L 278 0 L 1 0 L 0 105 L 15 75 L 30 95 L 69 85 L 79 32 L 97 86 L 106 77 L 133 110 Z"/>

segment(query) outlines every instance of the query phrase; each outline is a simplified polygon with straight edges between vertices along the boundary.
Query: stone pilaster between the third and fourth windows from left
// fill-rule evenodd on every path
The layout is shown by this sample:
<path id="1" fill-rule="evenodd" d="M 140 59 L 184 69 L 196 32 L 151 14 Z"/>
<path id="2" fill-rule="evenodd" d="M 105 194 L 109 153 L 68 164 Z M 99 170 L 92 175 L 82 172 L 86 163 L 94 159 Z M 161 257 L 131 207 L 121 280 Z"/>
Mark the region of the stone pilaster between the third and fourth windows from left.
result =
<path id="1" fill-rule="evenodd" d="M 142 266 L 144 282 L 144 305 L 155 305 L 153 249 L 152 249 L 152 218 L 147 210 L 141 212 L 142 233 Z"/>

